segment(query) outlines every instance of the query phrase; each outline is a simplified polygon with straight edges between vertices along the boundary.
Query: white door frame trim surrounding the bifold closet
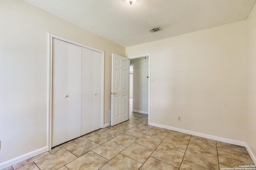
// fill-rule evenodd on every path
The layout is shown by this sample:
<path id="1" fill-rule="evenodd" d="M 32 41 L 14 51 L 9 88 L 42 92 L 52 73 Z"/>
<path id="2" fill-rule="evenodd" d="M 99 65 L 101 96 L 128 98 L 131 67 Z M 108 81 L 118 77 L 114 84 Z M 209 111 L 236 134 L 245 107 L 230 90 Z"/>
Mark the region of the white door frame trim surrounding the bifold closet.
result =
<path id="1" fill-rule="evenodd" d="M 104 51 L 95 49 L 92 47 L 89 47 L 87 45 L 77 43 L 75 41 L 72 41 L 70 39 L 66 39 L 63 37 L 60 37 L 58 35 L 54 35 L 52 33 L 48 33 L 48 41 L 49 41 L 49 46 L 48 46 L 48 106 L 47 106 L 47 147 L 48 151 L 52 149 L 51 141 L 52 141 L 52 39 L 56 38 L 61 41 L 66 41 L 67 43 L 71 43 L 74 45 L 78 45 L 81 47 L 84 47 L 86 49 L 90 49 L 93 51 L 97 51 L 102 53 L 102 100 L 101 100 L 101 105 L 102 105 L 102 110 L 101 110 L 101 128 L 104 127 Z"/>

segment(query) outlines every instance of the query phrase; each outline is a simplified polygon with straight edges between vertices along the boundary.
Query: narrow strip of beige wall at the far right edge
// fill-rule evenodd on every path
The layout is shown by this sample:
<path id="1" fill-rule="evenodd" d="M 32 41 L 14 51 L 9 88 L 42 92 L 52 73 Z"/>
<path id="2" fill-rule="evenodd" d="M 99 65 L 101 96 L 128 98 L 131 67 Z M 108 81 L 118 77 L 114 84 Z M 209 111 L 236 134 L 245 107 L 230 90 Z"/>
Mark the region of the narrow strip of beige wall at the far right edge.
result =
<path id="1" fill-rule="evenodd" d="M 247 18 L 246 144 L 256 156 L 256 5 Z M 256 158 L 254 158 L 256 160 Z"/>

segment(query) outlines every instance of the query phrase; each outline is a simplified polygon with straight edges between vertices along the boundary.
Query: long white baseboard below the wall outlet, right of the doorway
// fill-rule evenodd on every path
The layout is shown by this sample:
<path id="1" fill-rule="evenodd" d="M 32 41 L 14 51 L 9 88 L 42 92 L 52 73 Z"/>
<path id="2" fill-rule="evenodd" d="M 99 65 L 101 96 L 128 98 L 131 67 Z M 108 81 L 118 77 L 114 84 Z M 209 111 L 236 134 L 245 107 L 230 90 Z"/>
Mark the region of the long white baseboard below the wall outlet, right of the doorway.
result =
<path id="1" fill-rule="evenodd" d="M 234 144 L 234 145 L 239 145 L 239 146 L 245 147 L 245 142 L 242 142 L 242 141 L 235 141 L 235 140 L 232 140 L 232 139 L 226 139 L 226 138 L 222 138 L 222 137 L 206 135 L 204 133 L 188 131 L 188 130 L 184 130 L 184 129 L 180 129 L 180 128 L 176 128 L 176 127 L 160 125 L 160 124 L 157 124 L 157 123 L 148 123 L 148 125 L 152 125 L 152 126 L 156 126 L 156 127 L 162 127 L 164 129 L 169 129 L 169 130 L 172 130 L 172 131 L 187 133 L 187 134 L 195 135 L 195 136 L 198 136 L 198 137 L 204 137 L 204 138 L 212 139 L 212 140 L 215 140 L 215 141 L 220 141 L 220 142 L 225 142 L 225 143 L 230 143 L 230 144 Z"/>

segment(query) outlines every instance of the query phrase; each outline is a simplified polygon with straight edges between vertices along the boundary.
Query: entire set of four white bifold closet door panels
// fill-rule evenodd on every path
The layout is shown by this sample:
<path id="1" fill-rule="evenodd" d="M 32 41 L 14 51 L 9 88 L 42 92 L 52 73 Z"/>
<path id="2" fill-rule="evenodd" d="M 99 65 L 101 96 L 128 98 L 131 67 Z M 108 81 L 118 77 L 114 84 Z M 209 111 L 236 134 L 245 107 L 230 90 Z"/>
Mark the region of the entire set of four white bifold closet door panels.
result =
<path id="1" fill-rule="evenodd" d="M 102 127 L 102 53 L 53 38 L 52 147 Z"/>

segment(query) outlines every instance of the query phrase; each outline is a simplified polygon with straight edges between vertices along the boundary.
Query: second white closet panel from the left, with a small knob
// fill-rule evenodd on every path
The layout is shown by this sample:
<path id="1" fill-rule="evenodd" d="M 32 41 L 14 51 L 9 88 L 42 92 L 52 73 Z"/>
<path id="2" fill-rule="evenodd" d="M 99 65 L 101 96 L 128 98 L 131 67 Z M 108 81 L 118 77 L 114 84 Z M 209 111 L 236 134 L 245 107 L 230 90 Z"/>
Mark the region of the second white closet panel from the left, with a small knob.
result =
<path id="1" fill-rule="evenodd" d="M 67 141 L 81 136 L 82 47 L 68 44 Z"/>

